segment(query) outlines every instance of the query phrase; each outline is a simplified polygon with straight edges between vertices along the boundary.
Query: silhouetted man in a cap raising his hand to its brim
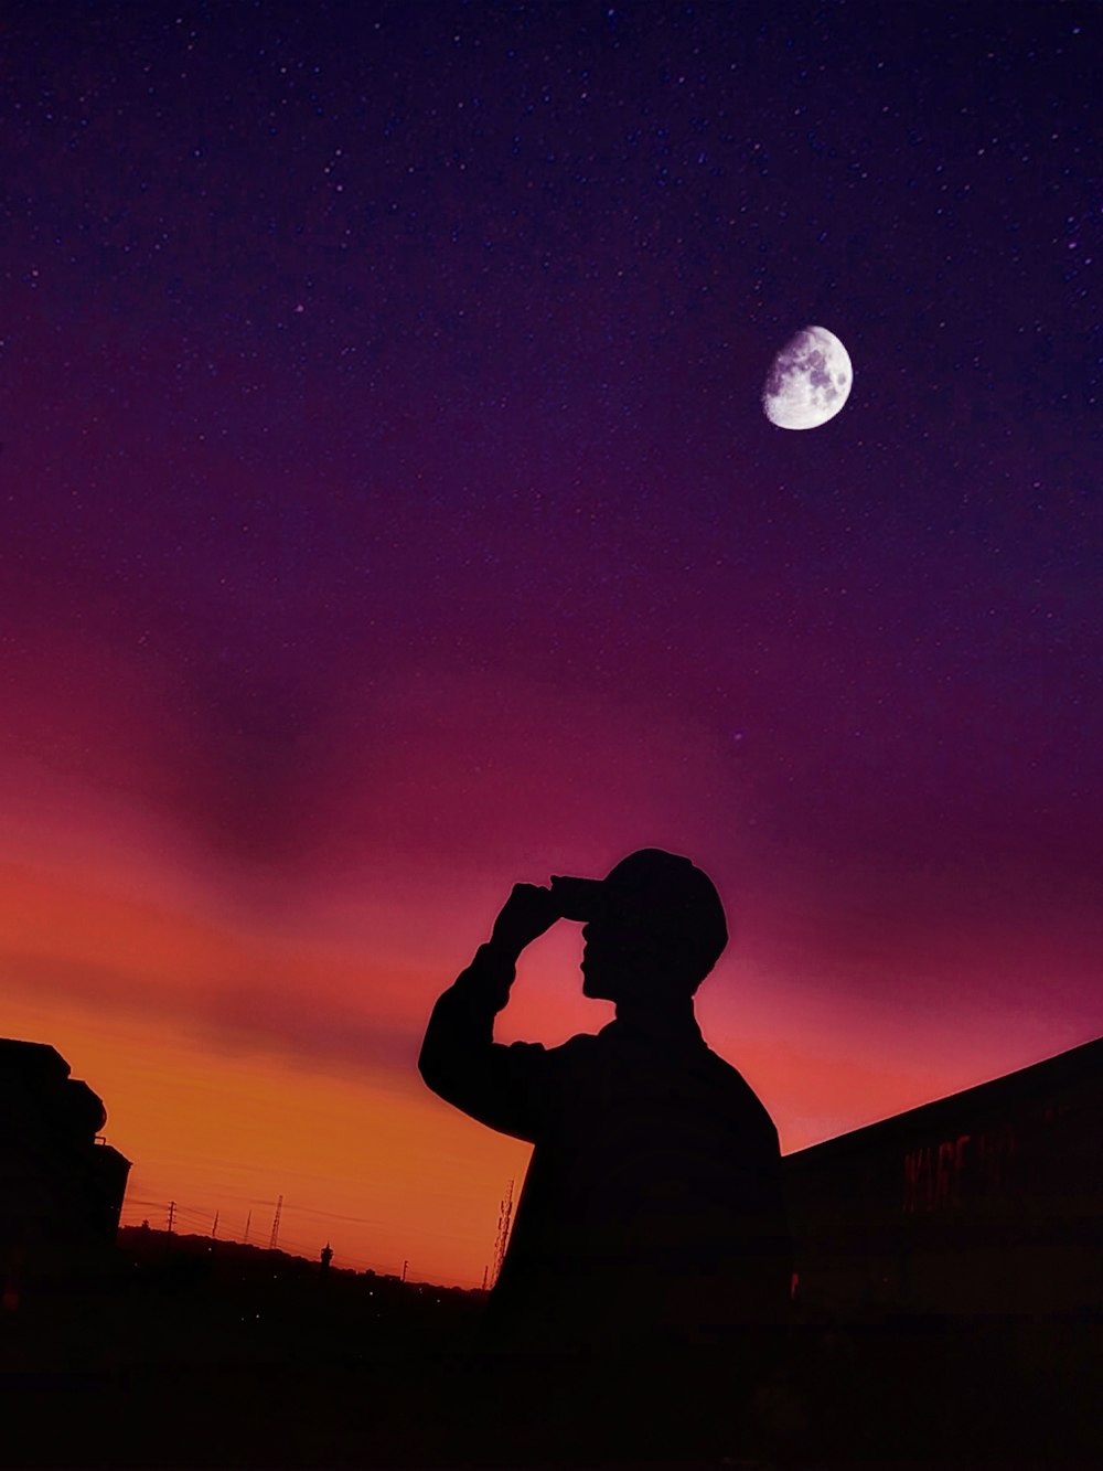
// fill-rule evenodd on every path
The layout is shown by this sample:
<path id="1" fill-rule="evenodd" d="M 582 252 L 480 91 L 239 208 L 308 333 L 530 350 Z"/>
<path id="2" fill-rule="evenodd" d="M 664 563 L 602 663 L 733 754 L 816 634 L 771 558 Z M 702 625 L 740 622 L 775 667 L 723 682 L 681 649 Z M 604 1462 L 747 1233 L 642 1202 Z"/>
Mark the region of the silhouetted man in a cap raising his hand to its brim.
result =
<path id="1" fill-rule="evenodd" d="M 518 956 L 559 918 L 585 922 L 582 991 L 616 1019 L 560 1047 L 494 1043 Z M 693 1011 L 727 940 L 710 880 L 643 849 L 604 880 L 518 884 L 437 1002 L 428 1086 L 535 1146 L 488 1305 L 501 1347 L 581 1350 L 644 1396 L 684 1393 L 703 1364 L 753 1372 L 790 1264 L 777 1130 Z"/>

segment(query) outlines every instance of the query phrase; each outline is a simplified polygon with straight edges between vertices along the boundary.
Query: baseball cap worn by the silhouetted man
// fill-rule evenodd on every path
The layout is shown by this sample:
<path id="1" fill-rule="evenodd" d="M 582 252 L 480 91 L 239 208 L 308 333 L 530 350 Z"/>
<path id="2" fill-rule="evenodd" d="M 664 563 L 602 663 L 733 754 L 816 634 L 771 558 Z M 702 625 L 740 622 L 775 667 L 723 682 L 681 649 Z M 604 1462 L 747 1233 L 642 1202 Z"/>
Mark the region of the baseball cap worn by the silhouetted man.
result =
<path id="1" fill-rule="evenodd" d="M 628 924 L 691 956 L 700 975 L 707 975 L 728 943 L 712 880 L 688 858 L 662 847 L 629 853 L 604 878 L 556 875 L 552 883 L 565 919 Z"/>

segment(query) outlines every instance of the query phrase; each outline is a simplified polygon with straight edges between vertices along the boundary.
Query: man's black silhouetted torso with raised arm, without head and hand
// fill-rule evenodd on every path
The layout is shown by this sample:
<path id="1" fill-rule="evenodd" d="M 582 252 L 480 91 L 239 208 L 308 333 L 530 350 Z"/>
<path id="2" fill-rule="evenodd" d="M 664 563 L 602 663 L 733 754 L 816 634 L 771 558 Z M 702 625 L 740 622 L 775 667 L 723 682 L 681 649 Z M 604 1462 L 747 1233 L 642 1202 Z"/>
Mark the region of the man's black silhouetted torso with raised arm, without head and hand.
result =
<path id="1" fill-rule="evenodd" d="M 560 1047 L 493 1041 L 513 966 L 484 946 L 441 996 L 422 1074 L 532 1143 L 488 1306 L 503 1347 L 646 1355 L 777 1322 L 788 1293 L 778 1136 L 685 1008 Z"/>

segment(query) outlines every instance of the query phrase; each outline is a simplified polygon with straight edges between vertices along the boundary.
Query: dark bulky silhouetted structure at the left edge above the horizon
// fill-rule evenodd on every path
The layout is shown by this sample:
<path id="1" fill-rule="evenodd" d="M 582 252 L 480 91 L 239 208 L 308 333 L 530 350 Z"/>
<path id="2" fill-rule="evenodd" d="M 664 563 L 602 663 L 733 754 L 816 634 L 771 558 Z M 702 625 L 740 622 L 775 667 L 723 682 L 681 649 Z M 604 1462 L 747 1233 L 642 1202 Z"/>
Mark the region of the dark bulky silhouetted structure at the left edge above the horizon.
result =
<path id="1" fill-rule="evenodd" d="M 15 1308 L 110 1252 L 131 1167 L 97 1139 L 101 1099 L 44 1043 L 0 1040 L 0 1278 Z"/>

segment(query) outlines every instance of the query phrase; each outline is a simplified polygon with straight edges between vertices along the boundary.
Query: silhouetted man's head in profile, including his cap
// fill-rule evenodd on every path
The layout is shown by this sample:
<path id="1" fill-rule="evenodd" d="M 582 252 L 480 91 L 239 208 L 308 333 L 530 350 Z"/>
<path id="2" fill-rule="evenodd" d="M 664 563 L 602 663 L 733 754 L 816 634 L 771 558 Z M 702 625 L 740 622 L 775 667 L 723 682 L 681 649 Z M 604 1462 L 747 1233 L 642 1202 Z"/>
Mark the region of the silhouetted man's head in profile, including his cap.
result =
<path id="1" fill-rule="evenodd" d="M 585 996 L 693 996 L 728 943 L 712 880 L 659 847 L 629 853 L 604 878 L 553 878 L 552 891 L 566 919 L 584 921 Z"/>

